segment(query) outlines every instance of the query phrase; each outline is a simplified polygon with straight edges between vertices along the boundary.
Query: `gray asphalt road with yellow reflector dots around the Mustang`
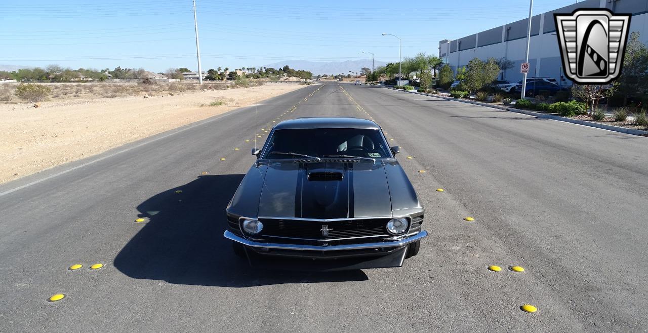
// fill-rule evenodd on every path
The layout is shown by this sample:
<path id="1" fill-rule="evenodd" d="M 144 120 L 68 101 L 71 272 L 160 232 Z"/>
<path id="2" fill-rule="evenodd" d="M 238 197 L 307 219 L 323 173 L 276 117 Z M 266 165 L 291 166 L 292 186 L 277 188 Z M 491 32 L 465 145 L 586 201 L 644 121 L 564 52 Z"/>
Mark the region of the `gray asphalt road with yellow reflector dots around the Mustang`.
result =
<path id="1" fill-rule="evenodd" d="M 372 117 L 402 147 L 430 233 L 404 267 L 233 255 L 224 209 L 255 127 L 301 116 Z M 648 138 L 308 86 L 0 186 L 0 332 L 647 332 L 647 189 Z"/>

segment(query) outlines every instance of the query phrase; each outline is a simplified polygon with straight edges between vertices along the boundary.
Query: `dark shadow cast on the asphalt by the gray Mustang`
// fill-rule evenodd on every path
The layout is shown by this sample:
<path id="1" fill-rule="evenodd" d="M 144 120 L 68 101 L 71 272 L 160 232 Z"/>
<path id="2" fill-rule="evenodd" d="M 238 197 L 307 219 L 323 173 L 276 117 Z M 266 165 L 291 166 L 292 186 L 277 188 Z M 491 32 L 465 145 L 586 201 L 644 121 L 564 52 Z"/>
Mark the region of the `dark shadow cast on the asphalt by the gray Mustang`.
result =
<path id="1" fill-rule="evenodd" d="M 243 176 L 199 176 L 146 199 L 137 210 L 147 222 L 117 254 L 114 266 L 132 278 L 235 288 L 368 279 L 360 270 L 308 273 L 255 269 L 235 256 L 223 237 L 225 209 Z"/>

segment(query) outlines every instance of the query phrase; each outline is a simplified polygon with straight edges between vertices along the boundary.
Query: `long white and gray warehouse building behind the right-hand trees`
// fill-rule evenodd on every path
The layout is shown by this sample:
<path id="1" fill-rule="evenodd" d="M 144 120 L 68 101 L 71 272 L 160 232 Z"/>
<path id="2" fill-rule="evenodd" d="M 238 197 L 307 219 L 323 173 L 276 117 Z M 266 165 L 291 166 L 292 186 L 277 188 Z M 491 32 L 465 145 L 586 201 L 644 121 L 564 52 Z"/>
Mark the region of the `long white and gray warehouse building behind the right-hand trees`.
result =
<path id="1" fill-rule="evenodd" d="M 553 14 L 571 14 L 578 8 L 608 8 L 612 12 L 632 14 L 628 36 L 640 32 L 640 40 L 648 44 L 648 0 L 580 1 L 531 18 L 528 77 L 554 77 L 561 85 L 572 84 L 564 76 L 561 79 L 563 69 Z M 513 68 L 502 71 L 498 79 L 516 82 L 522 79 L 520 65 L 526 56 L 528 21 L 521 19 L 457 40 L 442 40 L 439 42 L 439 58 L 450 65 L 453 73 L 456 73 L 457 65 L 466 66 L 473 58 L 507 58 L 513 62 Z"/>

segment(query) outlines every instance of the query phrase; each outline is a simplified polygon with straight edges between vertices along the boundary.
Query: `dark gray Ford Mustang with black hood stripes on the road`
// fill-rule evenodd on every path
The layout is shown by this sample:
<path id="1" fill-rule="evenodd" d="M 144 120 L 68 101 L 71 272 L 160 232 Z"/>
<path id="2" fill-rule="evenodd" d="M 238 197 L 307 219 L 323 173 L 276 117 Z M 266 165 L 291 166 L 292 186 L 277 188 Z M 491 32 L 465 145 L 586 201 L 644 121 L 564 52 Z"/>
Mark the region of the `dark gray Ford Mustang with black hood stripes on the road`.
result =
<path id="1" fill-rule="evenodd" d="M 322 270 L 400 267 L 419 252 L 424 208 L 373 121 L 277 124 L 227 206 L 224 236 L 252 262 L 316 260 Z"/>

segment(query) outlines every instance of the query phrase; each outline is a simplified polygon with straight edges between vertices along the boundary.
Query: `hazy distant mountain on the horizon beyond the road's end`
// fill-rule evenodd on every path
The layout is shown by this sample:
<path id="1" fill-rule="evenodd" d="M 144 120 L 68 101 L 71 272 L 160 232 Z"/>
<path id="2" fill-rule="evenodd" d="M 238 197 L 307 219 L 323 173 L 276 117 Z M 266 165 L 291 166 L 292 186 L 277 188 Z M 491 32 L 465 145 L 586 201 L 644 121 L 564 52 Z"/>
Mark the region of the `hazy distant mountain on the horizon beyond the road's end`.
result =
<path id="1" fill-rule="evenodd" d="M 334 62 L 314 62 L 308 60 L 285 60 L 281 62 L 275 62 L 274 64 L 266 65 L 265 67 L 272 67 L 275 69 L 282 68 L 283 66 L 288 65 L 292 69 L 302 69 L 304 71 L 310 71 L 314 75 L 318 74 L 340 74 L 346 73 L 349 71 L 360 73 L 360 69 L 366 67 L 371 68 L 371 59 L 361 59 L 361 60 L 347 60 L 347 61 L 334 61 Z M 375 60 L 374 67 L 385 66 L 386 62 Z"/>

